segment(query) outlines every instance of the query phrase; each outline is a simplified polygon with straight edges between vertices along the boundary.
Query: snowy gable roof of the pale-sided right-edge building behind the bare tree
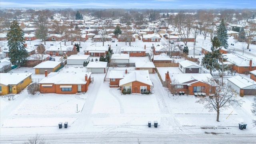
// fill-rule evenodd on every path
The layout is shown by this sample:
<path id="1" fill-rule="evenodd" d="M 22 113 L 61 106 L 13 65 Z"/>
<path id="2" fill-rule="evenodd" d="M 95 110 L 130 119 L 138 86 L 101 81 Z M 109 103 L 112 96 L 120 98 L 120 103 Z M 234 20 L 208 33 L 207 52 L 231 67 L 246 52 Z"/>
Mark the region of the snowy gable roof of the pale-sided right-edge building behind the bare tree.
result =
<path id="1" fill-rule="evenodd" d="M 228 82 L 232 82 L 239 88 L 256 88 L 256 82 L 250 78 L 244 76 L 234 76 L 232 78 L 227 79 Z"/>

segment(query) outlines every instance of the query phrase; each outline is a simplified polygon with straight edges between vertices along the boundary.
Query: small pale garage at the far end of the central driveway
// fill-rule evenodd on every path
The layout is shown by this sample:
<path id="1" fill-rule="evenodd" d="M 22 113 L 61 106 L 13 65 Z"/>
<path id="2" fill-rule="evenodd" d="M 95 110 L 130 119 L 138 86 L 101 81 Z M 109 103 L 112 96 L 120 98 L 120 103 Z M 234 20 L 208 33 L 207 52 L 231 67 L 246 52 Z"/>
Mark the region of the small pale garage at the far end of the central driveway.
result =
<path id="1" fill-rule="evenodd" d="M 86 66 L 87 72 L 106 73 L 108 62 L 89 62 Z"/>

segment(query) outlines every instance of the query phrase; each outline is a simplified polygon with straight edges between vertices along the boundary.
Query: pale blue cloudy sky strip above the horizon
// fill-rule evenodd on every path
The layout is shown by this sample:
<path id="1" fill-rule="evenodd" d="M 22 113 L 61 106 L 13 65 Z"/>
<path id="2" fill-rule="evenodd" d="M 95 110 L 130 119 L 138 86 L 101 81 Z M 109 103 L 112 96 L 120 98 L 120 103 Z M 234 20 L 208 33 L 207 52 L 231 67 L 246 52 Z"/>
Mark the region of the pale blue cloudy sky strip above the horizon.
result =
<path id="1" fill-rule="evenodd" d="M 256 8 L 256 0 L 0 0 L 0 8 Z"/>

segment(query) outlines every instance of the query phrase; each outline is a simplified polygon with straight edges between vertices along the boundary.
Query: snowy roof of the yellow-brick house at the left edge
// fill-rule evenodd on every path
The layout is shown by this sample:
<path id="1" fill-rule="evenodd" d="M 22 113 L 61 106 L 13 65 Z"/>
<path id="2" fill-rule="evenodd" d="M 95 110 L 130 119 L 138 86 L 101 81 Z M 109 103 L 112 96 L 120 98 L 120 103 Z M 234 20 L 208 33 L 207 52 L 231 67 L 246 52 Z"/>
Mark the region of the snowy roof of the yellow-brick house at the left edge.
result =
<path id="1" fill-rule="evenodd" d="M 32 73 L 0 73 L 0 84 L 18 84 Z"/>

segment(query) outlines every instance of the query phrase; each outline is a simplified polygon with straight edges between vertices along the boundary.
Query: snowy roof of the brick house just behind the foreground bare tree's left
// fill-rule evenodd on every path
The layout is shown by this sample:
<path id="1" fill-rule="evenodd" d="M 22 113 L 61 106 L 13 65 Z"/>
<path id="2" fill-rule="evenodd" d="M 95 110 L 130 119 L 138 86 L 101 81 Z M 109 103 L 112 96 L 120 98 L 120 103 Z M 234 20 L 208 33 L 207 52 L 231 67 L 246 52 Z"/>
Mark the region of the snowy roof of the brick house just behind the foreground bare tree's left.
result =
<path id="1" fill-rule="evenodd" d="M 193 84 L 196 82 L 205 82 L 208 78 L 212 78 L 211 74 L 171 74 L 169 73 L 171 81 L 174 79 L 178 84 Z"/>

